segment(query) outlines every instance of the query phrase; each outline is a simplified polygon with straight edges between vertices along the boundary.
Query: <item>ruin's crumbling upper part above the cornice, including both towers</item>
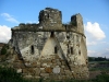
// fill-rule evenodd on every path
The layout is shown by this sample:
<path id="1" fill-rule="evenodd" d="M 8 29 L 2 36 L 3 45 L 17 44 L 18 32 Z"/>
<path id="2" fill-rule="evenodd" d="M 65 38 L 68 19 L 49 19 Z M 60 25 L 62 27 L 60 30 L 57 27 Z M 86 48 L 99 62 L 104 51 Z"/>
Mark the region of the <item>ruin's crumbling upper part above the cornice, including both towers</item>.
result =
<path id="1" fill-rule="evenodd" d="M 84 35 L 82 15 L 74 14 L 71 16 L 70 24 L 62 24 L 61 11 L 57 9 L 46 8 L 39 12 L 39 23 L 24 24 L 12 28 L 12 32 L 75 32 Z"/>

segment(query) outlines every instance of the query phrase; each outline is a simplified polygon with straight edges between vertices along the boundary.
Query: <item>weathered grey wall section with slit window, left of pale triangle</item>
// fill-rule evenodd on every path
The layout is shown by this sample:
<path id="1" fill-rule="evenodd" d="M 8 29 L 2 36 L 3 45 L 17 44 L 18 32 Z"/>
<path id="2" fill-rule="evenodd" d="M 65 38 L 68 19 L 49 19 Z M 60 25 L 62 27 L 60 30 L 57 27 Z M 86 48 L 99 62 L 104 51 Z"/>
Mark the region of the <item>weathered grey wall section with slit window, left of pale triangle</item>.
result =
<path id="1" fill-rule="evenodd" d="M 48 32 L 14 32 L 12 46 L 24 60 L 36 60 L 48 36 Z"/>

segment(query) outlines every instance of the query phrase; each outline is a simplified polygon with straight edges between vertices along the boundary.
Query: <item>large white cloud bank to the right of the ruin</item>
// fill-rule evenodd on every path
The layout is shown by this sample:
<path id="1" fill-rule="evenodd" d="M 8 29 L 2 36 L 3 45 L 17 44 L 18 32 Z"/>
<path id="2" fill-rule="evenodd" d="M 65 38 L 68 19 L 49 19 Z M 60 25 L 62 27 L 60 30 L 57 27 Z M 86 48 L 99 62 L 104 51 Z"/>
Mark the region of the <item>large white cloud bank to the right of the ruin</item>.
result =
<path id="1" fill-rule="evenodd" d="M 101 25 L 97 22 L 87 22 L 84 25 L 87 52 L 90 57 L 108 57 L 109 58 L 109 45 L 104 38 L 106 38 L 105 32 L 101 30 Z M 106 49 L 105 49 L 106 48 Z"/>

